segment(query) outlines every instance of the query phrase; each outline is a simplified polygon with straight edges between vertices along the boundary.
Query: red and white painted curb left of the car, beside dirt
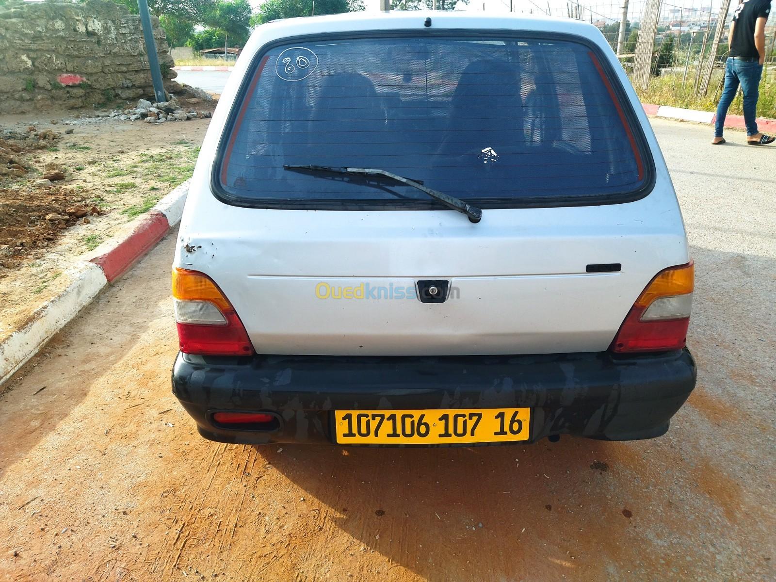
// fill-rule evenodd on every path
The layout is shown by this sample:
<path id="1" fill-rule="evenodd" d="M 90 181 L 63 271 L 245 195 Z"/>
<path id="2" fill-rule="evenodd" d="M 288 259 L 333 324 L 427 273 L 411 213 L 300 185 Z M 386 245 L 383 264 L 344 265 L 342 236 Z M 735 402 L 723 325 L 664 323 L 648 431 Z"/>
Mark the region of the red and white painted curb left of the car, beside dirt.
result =
<path id="1" fill-rule="evenodd" d="M 0 340 L 0 384 L 180 222 L 189 182 L 179 185 L 150 212 L 127 224 L 118 236 L 68 268 L 65 274 L 71 279 L 70 285 L 38 307 L 24 327 Z"/>

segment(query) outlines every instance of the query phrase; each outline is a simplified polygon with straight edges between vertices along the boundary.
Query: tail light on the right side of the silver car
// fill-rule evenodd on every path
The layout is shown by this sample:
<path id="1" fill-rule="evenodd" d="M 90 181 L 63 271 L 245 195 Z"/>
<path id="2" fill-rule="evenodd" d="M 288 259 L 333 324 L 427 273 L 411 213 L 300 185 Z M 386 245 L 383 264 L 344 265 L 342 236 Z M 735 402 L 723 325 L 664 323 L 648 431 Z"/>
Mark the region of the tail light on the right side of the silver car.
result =
<path id="1" fill-rule="evenodd" d="M 684 348 L 694 284 L 692 262 L 659 272 L 631 307 L 610 349 L 661 352 Z"/>

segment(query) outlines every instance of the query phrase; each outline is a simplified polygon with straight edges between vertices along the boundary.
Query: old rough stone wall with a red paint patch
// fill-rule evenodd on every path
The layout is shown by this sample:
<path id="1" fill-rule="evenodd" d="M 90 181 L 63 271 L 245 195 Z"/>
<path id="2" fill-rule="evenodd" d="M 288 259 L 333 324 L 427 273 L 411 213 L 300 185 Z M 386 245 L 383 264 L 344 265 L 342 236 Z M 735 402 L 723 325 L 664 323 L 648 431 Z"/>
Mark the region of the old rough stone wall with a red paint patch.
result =
<path id="1" fill-rule="evenodd" d="M 165 88 L 178 92 L 165 33 L 151 21 Z M 153 96 L 140 16 L 123 6 L 12 0 L 0 7 L 0 113 Z"/>

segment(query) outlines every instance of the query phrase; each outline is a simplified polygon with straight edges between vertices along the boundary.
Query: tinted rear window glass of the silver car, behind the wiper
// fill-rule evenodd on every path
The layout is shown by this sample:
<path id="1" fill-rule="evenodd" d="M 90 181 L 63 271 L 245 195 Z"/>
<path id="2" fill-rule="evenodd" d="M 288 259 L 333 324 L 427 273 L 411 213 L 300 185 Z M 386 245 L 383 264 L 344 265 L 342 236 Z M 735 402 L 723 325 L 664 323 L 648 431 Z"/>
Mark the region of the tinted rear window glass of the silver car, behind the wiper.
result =
<path id="1" fill-rule="evenodd" d="M 231 201 L 438 204 L 407 185 L 284 165 L 379 168 L 486 207 L 644 186 L 641 133 L 573 40 L 297 41 L 251 70 L 215 168 Z"/>

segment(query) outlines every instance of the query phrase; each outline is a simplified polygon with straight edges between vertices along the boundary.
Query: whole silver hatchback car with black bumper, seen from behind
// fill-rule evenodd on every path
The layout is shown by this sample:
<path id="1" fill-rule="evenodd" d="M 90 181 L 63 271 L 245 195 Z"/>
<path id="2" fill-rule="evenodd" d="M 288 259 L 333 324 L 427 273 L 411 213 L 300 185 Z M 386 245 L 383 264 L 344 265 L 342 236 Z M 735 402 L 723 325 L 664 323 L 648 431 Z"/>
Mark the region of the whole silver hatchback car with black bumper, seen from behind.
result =
<path id="1" fill-rule="evenodd" d="M 693 265 L 594 26 L 364 12 L 258 27 L 196 164 L 173 392 L 220 442 L 667 431 Z"/>

